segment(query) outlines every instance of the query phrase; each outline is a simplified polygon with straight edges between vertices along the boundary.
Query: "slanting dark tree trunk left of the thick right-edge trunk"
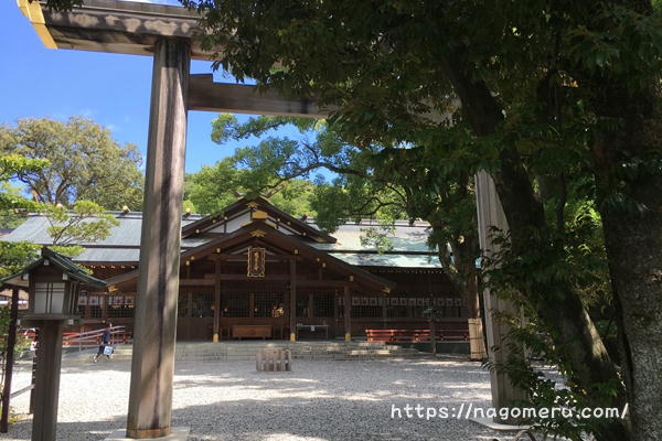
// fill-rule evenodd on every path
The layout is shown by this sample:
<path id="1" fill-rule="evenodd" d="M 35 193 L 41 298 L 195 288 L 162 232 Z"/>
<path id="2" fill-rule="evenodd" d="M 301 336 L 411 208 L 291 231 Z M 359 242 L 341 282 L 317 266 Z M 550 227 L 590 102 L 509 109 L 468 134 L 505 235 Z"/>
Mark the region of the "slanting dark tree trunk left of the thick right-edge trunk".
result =
<path id="1" fill-rule="evenodd" d="M 446 68 L 462 103 L 465 119 L 477 136 L 492 135 L 503 120 L 502 108 L 484 83 L 471 79 L 462 58 L 461 51 L 456 51 L 446 60 Z M 513 148 L 505 147 L 501 149 L 500 160 L 501 170 L 492 173 L 492 178 L 511 228 L 513 252 L 526 252 L 535 245 L 546 247 L 544 238 L 549 226 L 519 154 Z M 532 240 L 533 234 L 542 239 Z M 555 345 L 565 348 L 567 363 L 576 377 L 573 379 L 585 390 L 591 390 L 595 385 L 602 383 L 618 385 L 619 377 L 613 363 L 579 294 L 570 286 L 541 284 L 534 287 L 532 292 L 557 294 L 554 303 L 540 298 L 530 300 L 552 330 Z M 621 406 L 623 402 L 624 391 L 620 391 L 613 405 Z M 599 441 L 629 439 L 628 429 L 621 420 L 606 421 L 596 437 Z"/>

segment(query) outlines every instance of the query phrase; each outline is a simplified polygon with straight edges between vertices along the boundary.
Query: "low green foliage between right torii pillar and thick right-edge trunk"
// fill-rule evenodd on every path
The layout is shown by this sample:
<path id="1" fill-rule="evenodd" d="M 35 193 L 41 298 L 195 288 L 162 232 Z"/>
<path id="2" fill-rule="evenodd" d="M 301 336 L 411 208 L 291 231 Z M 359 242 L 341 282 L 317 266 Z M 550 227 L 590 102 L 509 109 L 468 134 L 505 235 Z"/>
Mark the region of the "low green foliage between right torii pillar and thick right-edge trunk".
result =
<path id="1" fill-rule="evenodd" d="M 573 351 L 573 342 L 559 338 L 554 324 L 541 316 L 541 310 L 562 308 L 567 295 L 565 290 L 573 287 L 591 316 L 600 320 L 598 331 L 610 354 L 618 359 L 615 329 L 605 324 L 613 323 L 616 314 L 610 305 L 612 293 L 601 220 L 592 203 L 578 197 L 576 192 L 570 193 L 574 197 L 566 204 L 562 228 L 548 232 L 546 237 L 530 232 L 531 248 L 516 252 L 510 235 L 493 230 L 494 241 L 501 250 L 484 262 L 488 287 L 516 304 L 527 318 L 522 322 L 520 316 L 498 316 L 512 327 L 508 343 L 504 343 L 512 356 L 503 364 L 489 365 L 508 374 L 515 385 L 527 390 L 528 398 L 522 407 L 610 407 L 623 387 L 618 377 L 589 385 L 579 381 L 567 355 Z M 522 347 L 526 347 L 525 356 Z M 543 361 L 544 366 L 533 361 Z M 563 377 L 544 375 L 549 368 L 558 369 Z M 525 422 L 545 433 L 577 441 L 583 439 L 583 433 L 600 430 L 605 424 L 604 420 L 580 419 L 570 413 Z"/>

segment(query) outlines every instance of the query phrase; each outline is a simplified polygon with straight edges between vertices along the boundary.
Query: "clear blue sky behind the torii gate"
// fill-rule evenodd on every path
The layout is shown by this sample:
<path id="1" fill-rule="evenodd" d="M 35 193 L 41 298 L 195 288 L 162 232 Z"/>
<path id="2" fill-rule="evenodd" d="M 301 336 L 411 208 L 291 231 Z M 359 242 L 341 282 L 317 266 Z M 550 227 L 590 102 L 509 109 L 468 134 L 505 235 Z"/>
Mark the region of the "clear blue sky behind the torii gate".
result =
<path id="1" fill-rule="evenodd" d="M 120 143 L 138 144 L 145 155 L 151 57 L 45 49 L 13 0 L 0 0 L 0 123 L 79 115 L 108 127 Z M 211 63 L 193 62 L 191 72 L 211 73 Z M 215 77 L 221 80 L 221 75 Z M 211 141 L 215 116 L 189 112 L 189 173 L 232 154 L 238 146 Z"/>

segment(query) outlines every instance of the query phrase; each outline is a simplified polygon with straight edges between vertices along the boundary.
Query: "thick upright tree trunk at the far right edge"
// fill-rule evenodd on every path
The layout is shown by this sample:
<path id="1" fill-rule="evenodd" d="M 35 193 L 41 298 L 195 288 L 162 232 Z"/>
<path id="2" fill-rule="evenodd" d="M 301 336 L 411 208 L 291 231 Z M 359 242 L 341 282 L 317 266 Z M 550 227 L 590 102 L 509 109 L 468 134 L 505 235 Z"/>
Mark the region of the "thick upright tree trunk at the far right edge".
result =
<path id="1" fill-rule="evenodd" d="M 591 152 L 633 439 L 653 441 L 662 439 L 662 93 L 621 87 L 602 88 L 600 116 L 622 123 L 596 136 Z"/>

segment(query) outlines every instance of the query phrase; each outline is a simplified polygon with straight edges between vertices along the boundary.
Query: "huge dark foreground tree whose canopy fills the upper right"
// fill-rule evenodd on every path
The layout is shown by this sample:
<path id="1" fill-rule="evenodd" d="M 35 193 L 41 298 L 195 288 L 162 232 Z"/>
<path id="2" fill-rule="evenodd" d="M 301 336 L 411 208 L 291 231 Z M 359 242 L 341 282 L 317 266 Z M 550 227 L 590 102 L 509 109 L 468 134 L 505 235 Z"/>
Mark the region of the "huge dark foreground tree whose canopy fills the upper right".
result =
<path id="1" fill-rule="evenodd" d="M 339 106 L 332 120 L 357 146 L 429 148 L 445 129 L 425 115 L 457 97 L 494 178 L 512 249 L 536 250 L 541 268 L 563 255 L 541 190 L 563 207 L 568 179 L 545 161 L 586 164 L 607 239 L 632 433 L 662 437 L 662 25 L 650 1 L 185 3 L 204 13 L 209 47 L 223 47 L 218 65 Z M 594 392 L 618 384 L 572 283 L 547 272 L 523 289 L 565 348 L 574 383 Z M 597 431 L 627 437 L 618 423 Z"/>

